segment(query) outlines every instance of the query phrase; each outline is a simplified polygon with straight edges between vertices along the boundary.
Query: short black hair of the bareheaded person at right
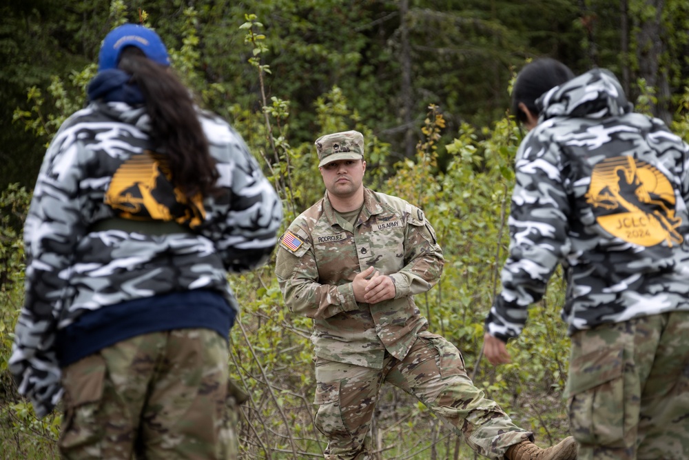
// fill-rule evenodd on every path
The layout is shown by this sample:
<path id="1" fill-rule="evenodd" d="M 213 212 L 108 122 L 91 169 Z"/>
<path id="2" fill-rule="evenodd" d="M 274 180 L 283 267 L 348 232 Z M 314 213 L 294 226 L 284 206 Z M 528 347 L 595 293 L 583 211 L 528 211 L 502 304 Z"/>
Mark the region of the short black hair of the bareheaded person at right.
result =
<path id="1" fill-rule="evenodd" d="M 575 77 L 574 72 L 560 61 L 549 57 L 536 59 L 526 64 L 517 74 L 512 88 L 512 114 L 524 123 L 526 114 L 520 110 L 520 102 L 524 103 L 529 112 L 539 114 L 536 100 L 545 92 L 562 85 Z"/>

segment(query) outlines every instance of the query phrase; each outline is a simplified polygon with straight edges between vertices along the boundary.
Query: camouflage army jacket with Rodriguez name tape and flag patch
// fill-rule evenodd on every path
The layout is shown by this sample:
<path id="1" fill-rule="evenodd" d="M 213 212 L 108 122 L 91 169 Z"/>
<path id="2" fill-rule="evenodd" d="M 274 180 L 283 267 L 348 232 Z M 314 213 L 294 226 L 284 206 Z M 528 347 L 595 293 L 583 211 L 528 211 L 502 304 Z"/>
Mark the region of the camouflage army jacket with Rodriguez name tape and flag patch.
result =
<path id="1" fill-rule="evenodd" d="M 276 274 L 290 310 L 313 318 L 316 356 L 382 368 L 387 350 L 407 355 L 428 328 L 413 294 L 440 279 L 442 250 L 423 212 L 402 199 L 364 189 L 356 225 L 327 197 L 289 226 L 278 246 Z M 395 299 L 357 303 L 352 281 L 374 266 L 395 283 Z"/>

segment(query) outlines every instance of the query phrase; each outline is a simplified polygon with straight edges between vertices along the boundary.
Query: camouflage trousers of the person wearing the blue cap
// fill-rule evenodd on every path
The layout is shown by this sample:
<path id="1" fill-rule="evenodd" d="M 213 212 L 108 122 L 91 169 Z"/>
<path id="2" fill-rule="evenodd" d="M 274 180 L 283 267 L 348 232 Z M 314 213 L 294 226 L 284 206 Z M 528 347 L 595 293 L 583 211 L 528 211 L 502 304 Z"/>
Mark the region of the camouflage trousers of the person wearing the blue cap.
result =
<path id="1" fill-rule="evenodd" d="M 237 458 L 227 342 L 207 329 L 143 334 L 63 369 L 65 459 Z"/>

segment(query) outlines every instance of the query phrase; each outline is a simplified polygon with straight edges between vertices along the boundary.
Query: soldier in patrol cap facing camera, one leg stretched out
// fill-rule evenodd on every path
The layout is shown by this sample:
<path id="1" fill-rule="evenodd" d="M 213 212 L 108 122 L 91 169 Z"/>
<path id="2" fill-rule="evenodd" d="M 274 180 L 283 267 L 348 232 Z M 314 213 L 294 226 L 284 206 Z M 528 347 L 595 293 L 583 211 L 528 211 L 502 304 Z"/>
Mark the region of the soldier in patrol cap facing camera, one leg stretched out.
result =
<path id="1" fill-rule="evenodd" d="M 325 458 L 370 458 L 371 416 L 384 382 L 418 397 L 491 459 L 574 459 L 568 438 L 542 450 L 473 386 L 462 354 L 428 329 L 414 303 L 440 279 L 442 250 L 424 213 L 362 185 L 360 132 L 316 141 L 325 197 L 289 226 L 276 274 L 289 308 L 313 319 L 316 426 Z"/>

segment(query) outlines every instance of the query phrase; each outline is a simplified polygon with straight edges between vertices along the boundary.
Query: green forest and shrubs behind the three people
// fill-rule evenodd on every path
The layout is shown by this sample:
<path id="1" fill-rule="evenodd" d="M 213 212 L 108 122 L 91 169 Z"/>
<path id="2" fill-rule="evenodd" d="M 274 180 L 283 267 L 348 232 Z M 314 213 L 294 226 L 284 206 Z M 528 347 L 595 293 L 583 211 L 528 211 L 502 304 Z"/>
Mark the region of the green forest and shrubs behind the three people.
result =
<path id="1" fill-rule="evenodd" d="M 285 204 L 285 224 L 322 197 L 313 141 L 356 129 L 366 185 L 426 212 L 442 280 L 417 303 L 462 350 L 477 386 L 547 446 L 568 434 L 558 272 L 513 363 L 482 359 L 483 319 L 508 243 L 512 164 L 523 132 L 508 111 L 515 71 L 554 57 L 617 74 L 638 111 L 687 139 L 684 0 L 5 0 L 0 5 L 0 458 L 57 458 L 59 411 L 34 417 L 7 371 L 23 303 L 21 226 L 45 147 L 85 102 L 105 34 L 157 30 L 199 102 L 243 135 Z M 310 320 L 285 308 L 273 263 L 230 282 L 243 308 L 233 377 L 249 391 L 242 459 L 322 457 L 313 427 Z M 379 459 L 471 459 L 462 439 L 386 387 L 373 420 Z"/>

